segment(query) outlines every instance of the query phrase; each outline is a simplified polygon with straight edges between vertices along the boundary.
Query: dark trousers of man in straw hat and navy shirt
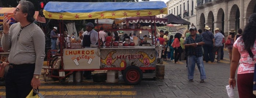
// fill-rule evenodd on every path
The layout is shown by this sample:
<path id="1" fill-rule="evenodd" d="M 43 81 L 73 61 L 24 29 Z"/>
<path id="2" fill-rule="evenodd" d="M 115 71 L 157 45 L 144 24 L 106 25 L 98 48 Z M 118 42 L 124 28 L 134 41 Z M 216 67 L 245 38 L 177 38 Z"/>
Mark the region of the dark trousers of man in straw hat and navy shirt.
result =
<path id="1" fill-rule="evenodd" d="M 212 45 L 204 45 L 203 48 L 204 48 L 205 62 L 208 62 L 209 59 L 211 60 L 211 62 L 213 62 L 214 61 L 213 54 L 212 54 L 213 46 Z"/>

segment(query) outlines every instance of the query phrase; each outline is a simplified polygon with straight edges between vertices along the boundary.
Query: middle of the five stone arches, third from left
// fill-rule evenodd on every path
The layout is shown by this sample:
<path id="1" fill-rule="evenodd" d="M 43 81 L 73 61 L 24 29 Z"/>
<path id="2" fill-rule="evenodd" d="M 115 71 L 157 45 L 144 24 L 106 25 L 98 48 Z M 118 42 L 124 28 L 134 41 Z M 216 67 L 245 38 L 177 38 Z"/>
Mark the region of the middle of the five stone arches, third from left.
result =
<path id="1" fill-rule="evenodd" d="M 218 10 L 217 18 L 216 18 L 216 27 L 218 27 L 220 30 L 224 31 L 224 11 L 222 8 Z"/>

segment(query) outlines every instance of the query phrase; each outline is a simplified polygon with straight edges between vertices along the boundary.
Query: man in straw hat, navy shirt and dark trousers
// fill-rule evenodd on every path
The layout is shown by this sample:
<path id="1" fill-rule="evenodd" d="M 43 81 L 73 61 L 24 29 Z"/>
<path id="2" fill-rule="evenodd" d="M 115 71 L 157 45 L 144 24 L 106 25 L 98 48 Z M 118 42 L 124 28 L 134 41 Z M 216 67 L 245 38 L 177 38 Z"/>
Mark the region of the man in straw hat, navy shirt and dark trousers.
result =
<path id="1" fill-rule="evenodd" d="M 206 63 L 208 63 L 209 60 L 214 63 L 214 54 L 212 53 L 212 49 L 215 43 L 214 34 L 210 31 L 211 28 L 209 28 L 209 26 L 205 26 L 204 29 L 205 31 L 201 34 L 204 41 L 204 59 Z"/>

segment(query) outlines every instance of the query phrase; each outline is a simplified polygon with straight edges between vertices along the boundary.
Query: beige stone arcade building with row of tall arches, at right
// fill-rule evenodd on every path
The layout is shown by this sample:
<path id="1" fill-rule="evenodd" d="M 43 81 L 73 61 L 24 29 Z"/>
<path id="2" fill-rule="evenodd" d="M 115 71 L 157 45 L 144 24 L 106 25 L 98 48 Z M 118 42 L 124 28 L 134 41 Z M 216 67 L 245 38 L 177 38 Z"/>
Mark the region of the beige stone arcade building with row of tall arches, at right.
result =
<path id="1" fill-rule="evenodd" d="M 197 0 L 197 29 L 218 27 L 227 36 L 230 29 L 244 29 L 251 14 L 256 13 L 256 0 Z"/>

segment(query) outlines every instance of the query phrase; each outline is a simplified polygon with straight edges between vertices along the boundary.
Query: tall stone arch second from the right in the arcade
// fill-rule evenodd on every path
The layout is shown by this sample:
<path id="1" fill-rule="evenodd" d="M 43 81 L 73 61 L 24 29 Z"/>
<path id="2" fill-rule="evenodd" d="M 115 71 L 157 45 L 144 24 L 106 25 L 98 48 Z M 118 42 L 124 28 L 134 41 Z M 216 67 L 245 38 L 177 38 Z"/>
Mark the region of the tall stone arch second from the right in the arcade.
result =
<path id="1" fill-rule="evenodd" d="M 240 11 L 236 4 L 231 7 L 230 14 L 229 14 L 229 29 L 235 29 L 237 31 L 240 26 Z"/>

